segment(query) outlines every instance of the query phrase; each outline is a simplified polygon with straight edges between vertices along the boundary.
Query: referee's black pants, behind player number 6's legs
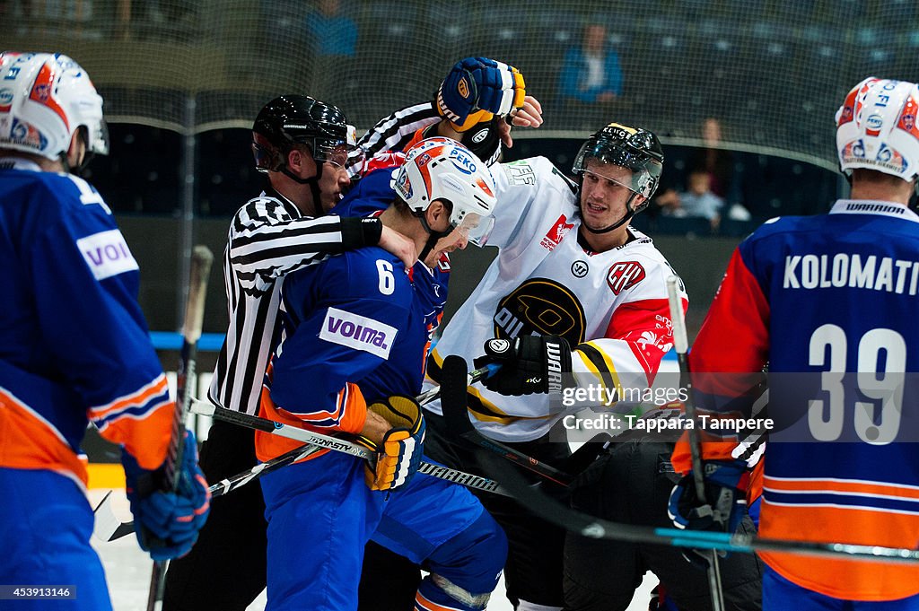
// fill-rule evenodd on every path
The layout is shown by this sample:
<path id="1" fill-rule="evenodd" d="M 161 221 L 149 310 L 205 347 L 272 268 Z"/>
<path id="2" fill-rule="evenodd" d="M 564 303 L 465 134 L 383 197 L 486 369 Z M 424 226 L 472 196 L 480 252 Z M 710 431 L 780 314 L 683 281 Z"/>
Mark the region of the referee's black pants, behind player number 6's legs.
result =
<path id="1" fill-rule="evenodd" d="M 211 484 L 255 467 L 255 433 L 211 424 L 199 464 Z M 163 611 L 244 611 L 265 589 L 266 531 L 257 481 L 214 499 L 191 551 L 169 562 Z"/>

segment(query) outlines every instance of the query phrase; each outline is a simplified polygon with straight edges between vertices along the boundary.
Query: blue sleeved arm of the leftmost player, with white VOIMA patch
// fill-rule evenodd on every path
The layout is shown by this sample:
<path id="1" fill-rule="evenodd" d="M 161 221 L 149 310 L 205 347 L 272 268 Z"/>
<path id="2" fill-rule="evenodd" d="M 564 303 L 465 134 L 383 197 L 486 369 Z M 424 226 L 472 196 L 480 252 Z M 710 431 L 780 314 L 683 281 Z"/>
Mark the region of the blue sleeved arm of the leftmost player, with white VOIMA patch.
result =
<path id="1" fill-rule="evenodd" d="M 175 404 L 137 303 L 137 261 L 101 196 L 68 179 L 74 185 L 57 186 L 59 197 L 80 198 L 80 185 L 85 203 L 65 208 L 29 244 L 41 339 L 100 434 L 155 469 Z"/>

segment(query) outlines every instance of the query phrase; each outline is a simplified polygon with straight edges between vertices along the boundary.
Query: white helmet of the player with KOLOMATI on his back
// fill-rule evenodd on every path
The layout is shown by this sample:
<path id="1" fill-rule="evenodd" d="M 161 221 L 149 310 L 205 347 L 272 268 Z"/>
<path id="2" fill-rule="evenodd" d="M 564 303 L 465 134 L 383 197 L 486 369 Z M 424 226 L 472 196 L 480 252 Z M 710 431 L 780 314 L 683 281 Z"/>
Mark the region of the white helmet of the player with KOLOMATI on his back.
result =
<path id="1" fill-rule="evenodd" d="M 836 111 L 836 151 L 846 175 L 866 168 L 910 182 L 919 175 L 919 87 L 868 77 Z"/>

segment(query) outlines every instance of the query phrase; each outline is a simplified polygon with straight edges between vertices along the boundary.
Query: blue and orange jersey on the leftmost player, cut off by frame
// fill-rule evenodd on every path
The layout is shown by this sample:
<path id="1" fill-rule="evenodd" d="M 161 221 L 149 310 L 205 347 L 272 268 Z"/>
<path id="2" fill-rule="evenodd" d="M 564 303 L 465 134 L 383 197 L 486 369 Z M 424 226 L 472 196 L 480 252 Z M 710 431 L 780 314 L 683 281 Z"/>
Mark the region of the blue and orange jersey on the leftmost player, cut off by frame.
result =
<path id="1" fill-rule="evenodd" d="M 137 302 L 137 261 L 96 189 L 0 161 L 0 282 L 0 468 L 85 485 L 89 422 L 158 467 L 175 403 Z"/>

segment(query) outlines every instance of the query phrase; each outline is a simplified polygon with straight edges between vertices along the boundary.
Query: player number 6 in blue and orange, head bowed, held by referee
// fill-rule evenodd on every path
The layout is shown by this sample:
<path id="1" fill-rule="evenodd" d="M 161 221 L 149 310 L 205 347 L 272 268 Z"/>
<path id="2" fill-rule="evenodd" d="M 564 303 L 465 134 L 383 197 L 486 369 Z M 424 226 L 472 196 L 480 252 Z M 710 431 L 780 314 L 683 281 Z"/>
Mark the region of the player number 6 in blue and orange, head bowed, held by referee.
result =
<path id="1" fill-rule="evenodd" d="M 462 247 L 488 227 L 493 179 L 457 142 L 420 142 L 393 181 L 399 198 L 380 219 L 423 254 Z M 321 453 L 262 479 L 272 611 L 356 609 L 363 545 L 371 536 L 415 562 L 426 560 L 431 574 L 416 608 L 483 609 L 497 583 L 506 553 L 500 527 L 466 489 L 412 477 L 425 424 L 406 395 L 421 389 L 428 341 L 416 273 L 365 248 L 285 279 L 283 339 L 261 413 L 357 435 L 378 458 L 374 466 Z M 292 447 L 262 433 L 255 443 L 262 460 Z"/>

